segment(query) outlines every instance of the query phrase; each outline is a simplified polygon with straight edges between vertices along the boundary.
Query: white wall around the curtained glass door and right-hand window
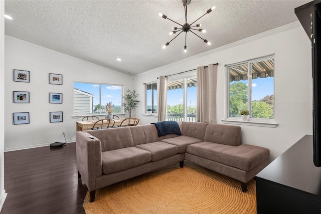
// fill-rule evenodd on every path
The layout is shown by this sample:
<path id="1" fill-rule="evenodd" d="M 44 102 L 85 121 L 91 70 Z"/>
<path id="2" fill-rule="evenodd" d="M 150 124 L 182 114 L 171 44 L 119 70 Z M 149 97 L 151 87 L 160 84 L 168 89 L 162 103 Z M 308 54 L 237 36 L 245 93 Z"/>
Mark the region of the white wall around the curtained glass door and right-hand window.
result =
<path id="1" fill-rule="evenodd" d="M 133 87 L 139 94 L 144 94 L 143 83 L 156 81 L 161 75 L 219 63 L 217 121 L 223 123 L 221 120 L 225 117 L 227 85 L 224 65 L 270 54 L 275 54 L 275 121 L 278 126 L 268 128 L 241 125 L 241 134 L 243 143 L 270 149 L 270 160 L 273 160 L 305 134 L 312 134 L 310 41 L 298 22 L 136 75 Z M 142 124 L 157 121 L 156 117 L 142 115 L 144 102 L 139 104 L 136 112 L 143 119 Z"/>

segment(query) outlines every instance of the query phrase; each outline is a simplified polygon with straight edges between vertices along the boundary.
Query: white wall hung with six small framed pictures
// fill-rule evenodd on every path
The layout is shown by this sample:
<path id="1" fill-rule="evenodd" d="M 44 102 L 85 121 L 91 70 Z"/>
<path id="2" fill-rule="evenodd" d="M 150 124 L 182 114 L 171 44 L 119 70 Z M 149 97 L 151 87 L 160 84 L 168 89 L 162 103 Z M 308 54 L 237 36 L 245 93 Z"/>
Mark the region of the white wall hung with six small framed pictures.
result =
<path id="1" fill-rule="evenodd" d="M 74 81 L 124 85 L 132 90 L 128 75 L 5 36 L 5 151 L 75 141 Z M 13 70 L 30 71 L 30 83 L 14 82 Z M 62 74 L 63 85 L 49 84 L 49 73 Z M 13 103 L 13 91 L 29 91 L 30 103 Z M 50 104 L 49 93 L 63 93 L 62 104 Z M 49 112 L 63 111 L 63 122 L 50 123 Z M 30 124 L 13 125 L 14 112 L 30 112 Z"/>

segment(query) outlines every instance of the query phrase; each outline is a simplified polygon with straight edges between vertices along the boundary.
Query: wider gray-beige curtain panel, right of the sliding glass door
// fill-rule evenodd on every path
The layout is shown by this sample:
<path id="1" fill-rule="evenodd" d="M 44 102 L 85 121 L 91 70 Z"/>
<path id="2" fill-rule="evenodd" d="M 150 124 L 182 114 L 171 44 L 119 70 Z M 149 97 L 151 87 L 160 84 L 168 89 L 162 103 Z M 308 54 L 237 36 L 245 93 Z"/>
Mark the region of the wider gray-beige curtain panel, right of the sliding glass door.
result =
<path id="1" fill-rule="evenodd" d="M 196 77 L 196 121 L 216 123 L 217 65 L 210 64 L 208 67 L 197 67 Z"/>

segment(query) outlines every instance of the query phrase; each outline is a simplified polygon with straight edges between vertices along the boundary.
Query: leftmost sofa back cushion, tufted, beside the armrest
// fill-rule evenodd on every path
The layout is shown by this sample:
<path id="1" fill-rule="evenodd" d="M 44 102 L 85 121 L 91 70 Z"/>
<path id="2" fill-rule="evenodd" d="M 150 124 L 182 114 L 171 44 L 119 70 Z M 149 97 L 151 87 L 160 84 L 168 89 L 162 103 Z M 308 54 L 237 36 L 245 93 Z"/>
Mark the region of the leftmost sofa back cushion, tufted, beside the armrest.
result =
<path id="1" fill-rule="evenodd" d="M 134 146 L 129 127 L 89 130 L 86 132 L 100 140 L 102 152 Z"/>

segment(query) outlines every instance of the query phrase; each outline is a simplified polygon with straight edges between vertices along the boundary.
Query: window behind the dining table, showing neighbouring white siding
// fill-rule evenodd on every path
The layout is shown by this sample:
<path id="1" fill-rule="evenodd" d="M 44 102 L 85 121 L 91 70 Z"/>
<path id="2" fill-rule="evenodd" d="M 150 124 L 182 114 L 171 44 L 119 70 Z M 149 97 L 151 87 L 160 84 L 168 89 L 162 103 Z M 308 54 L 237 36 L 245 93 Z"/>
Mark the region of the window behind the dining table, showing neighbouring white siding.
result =
<path id="1" fill-rule="evenodd" d="M 102 114 L 106 112 L 106 104 L 114 106 L 112 113 L 123 113 L 121 102 L 123 86 L 97 83 L 74 82 L 74 113 Z"/>

